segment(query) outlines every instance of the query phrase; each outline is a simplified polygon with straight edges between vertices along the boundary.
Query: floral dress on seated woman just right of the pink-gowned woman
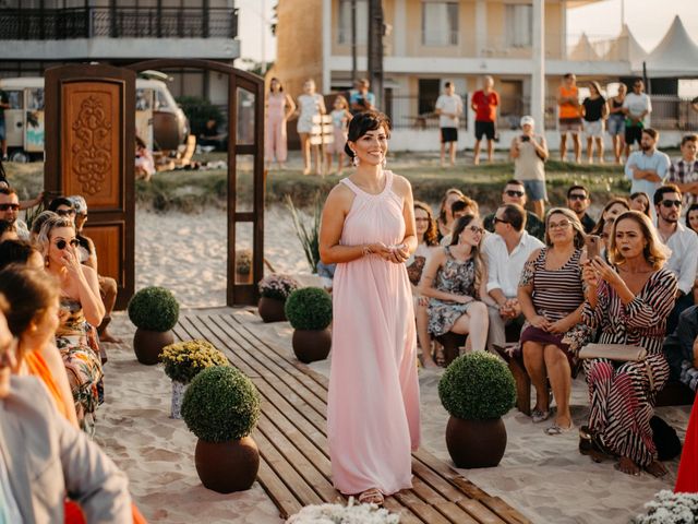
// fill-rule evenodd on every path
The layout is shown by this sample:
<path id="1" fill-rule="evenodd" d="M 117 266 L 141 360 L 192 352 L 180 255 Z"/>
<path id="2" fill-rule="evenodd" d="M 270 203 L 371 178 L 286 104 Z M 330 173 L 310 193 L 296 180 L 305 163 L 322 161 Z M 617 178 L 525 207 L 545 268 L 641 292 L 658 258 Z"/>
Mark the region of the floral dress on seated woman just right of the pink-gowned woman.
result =
<path id="1" fill-rule="evenodd" d="M 436 273 L 436 289 L 454 295 L 468 297 L 476 296 L 476 261 L 473 258 L 465 262 L 457 261 L 450 253 L 450 247 L 446 250 L 446 261 Z M 456 321 L 462 317 L 470 305 L 458 303 L 438 298 L 429 300 L 429 332 L 434 336 L 448 333 Z"/>

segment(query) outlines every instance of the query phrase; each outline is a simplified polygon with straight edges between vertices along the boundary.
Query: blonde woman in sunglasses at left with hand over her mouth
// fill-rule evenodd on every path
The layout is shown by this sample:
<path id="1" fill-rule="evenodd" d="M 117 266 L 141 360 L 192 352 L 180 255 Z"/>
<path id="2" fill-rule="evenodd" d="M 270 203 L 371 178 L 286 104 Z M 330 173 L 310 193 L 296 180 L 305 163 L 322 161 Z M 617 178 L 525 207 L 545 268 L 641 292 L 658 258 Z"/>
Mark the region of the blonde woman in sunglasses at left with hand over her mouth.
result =
<path id="1" fill-rule="evenodd" d="M 91 347 L 86 324 L 99 325 L 105 314 L 97 273 L 80 263 L 75 228 L 69 218 L 57 216 L 46 221 L 38 240 L 45 271 L 60 285 L 61 322 L 56 345 L 68 371 L 77 419 L 92 433 L 103 372 L 99 352 Z"/>

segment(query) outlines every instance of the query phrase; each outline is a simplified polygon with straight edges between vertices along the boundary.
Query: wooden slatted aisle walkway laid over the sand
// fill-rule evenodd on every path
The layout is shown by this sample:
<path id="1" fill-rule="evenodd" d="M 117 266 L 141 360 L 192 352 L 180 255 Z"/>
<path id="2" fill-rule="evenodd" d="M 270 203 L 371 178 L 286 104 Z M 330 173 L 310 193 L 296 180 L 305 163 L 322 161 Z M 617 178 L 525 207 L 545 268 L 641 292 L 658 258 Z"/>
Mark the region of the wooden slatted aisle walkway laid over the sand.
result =
<path id="1" fill-rule="evenodd" d="M 180 317 L 180 340 L 204 338 L 225 352 L 257 386 L 262 415 L 253 438 L 262 456 L 258 480 L 282 519 L 303 505 L 345 501 L 330 480 L 327 453 L 327 379 L 263 341 L 248 312 L 197 310 Z M 412 454 L 413 488 L 386 498 L 404 524 L 527 523 L 423 449 Z"/>

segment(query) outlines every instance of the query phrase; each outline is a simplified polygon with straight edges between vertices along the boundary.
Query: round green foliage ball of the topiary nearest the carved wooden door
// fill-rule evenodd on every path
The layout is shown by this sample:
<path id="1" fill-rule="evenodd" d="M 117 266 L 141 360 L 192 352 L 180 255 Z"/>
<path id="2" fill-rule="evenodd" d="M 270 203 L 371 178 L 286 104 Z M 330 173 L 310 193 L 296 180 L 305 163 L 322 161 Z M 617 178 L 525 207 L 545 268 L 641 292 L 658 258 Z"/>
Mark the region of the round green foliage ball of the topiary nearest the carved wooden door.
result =
<path id="1" fill-rule="evenodd" d="M 179 303 L 164 287 L 144 287 L 129 302 L 129 319 L 136 327 L 164 333 L 179 319 Z"/>

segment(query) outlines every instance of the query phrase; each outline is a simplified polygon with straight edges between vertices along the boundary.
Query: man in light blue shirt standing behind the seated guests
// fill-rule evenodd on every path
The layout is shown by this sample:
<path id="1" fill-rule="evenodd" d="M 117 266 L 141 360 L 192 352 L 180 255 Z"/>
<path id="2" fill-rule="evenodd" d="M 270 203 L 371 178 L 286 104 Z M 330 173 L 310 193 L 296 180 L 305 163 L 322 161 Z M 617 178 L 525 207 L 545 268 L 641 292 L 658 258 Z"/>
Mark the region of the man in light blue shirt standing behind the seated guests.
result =
<path id="1" fill-rule="evenodd" d="M 650 202 L 653 202 L 654 191 L 662 184 L 672 165 L 669 156 L 657 151 L 658 142 L 657 130 L 643 129 L 640 141 L 641 151 L 630 153 L 625 163 L 625 177 L 633 182 L 630 193 L 642 191 L 650 196 Z"/>

